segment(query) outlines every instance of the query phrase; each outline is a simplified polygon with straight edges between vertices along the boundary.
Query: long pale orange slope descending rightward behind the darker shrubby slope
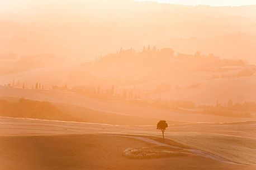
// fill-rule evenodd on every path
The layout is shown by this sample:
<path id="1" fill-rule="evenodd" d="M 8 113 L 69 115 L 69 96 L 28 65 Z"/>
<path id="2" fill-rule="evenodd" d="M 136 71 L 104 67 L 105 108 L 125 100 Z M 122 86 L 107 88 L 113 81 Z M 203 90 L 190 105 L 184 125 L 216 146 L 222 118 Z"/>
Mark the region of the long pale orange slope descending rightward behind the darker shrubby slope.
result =
<path id="1" fill-rule="evenodd" d="M 2 96 L 16 96 L 20 98 L 25 97 L 33 100 L 44 100 L 54 103 L 82 106 L 83 108 L 107 113 L 139 116 L 141 118 L 167 119 L 171 120 L 172 122 L 243 122 L 255 120 L 254 114 L 251 118 L 202 115 L 189 110 L 167 110 L 123 101 L 97 100 L 77 93 L 68 93 L 63 91 L 27 90 L 4 88 L 3 86 L 0 86 L 0 91 Z"/>

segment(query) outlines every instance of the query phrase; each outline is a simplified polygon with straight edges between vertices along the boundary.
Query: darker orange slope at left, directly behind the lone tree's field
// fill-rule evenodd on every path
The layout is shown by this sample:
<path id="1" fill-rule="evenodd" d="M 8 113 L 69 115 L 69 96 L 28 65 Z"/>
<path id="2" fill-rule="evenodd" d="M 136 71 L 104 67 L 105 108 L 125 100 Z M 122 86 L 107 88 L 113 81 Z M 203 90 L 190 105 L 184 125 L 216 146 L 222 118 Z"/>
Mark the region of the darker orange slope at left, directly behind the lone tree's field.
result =
<path id="1" fill-rule="evenodd" d="M 18 98 L 0 99 L 0 116 L 12 118 L 34 118 L 63 120 L 69 122 L 103 123 L 113 125 L 154 125 L 156 118 L 129 114 L 97 111 L 68 103 L 49 103 Z M 170 123 L 184 123 L 169 120 Z"/>

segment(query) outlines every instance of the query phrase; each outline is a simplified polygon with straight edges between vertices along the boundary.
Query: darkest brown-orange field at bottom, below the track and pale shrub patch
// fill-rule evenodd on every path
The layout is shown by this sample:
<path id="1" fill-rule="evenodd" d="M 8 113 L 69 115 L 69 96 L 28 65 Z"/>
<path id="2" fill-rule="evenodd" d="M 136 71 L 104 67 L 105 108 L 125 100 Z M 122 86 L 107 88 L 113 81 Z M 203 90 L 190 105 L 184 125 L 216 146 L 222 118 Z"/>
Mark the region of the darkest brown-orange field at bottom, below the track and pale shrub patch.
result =
<path id="1" fill-rule="evenodd" d="M 152 145 L 132 138 L 91 134 L 0 139 L 1 169 L 253 169 L 200 156 L 128 159 L 122 156 L 127 147 Z"/>

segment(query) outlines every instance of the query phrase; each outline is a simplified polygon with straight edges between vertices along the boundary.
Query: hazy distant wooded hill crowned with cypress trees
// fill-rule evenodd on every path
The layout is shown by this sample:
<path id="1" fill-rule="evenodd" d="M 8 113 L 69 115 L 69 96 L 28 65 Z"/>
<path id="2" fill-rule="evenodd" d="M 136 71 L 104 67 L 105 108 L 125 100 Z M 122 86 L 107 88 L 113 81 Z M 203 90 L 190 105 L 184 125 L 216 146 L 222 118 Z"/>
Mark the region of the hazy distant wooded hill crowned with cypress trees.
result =
<path id="1" fill-rule="evenodd" d="M 196 52 L 194 55 L 174 54 L 171 48 L 157 49 L 155 46 L 151 49 L 143 48 L 142 52 L 136 52 L 134 49 L 123 50 L 114 54 L 108 54 L 102 57 L 96 57 L 95 65 L 119 70 L 133 69 L 142 72 L 169 72 L 169 71 L 214 71 L 224 66 L 243 66 L 242 60 L 220 59 L 213 54 L 202 55 Z M 217 67 L 217 68 L 216 68 Z"/>

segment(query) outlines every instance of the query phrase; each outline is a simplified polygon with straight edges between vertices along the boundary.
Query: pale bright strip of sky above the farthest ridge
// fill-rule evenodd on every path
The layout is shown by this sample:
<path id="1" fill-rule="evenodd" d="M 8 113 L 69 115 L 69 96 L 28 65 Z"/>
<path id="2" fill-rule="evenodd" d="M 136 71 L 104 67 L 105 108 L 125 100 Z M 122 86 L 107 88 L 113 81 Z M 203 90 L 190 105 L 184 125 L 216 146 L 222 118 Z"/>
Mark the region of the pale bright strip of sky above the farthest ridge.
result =
<path id="1" fill-rule="evenodd" d="M 145 1 L 145 0 L 138 0 Z M 206 4 L 210 6 L 244 6 L 256 4 L 256 0 L 151 0 L 160 3 L 197 5 Z"/>

